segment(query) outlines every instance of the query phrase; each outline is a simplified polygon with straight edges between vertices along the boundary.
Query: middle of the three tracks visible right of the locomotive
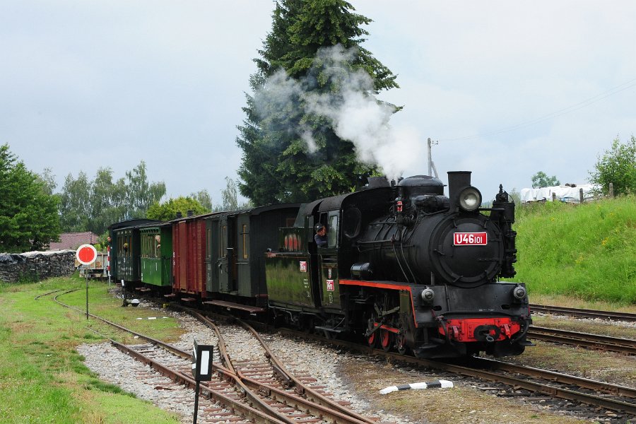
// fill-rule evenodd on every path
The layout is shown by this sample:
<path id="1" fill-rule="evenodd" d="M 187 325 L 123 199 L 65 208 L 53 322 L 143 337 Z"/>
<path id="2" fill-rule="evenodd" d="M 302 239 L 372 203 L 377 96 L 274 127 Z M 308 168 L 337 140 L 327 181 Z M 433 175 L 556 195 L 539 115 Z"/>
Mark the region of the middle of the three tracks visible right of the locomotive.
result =
<path id="1" fill-rule="evenodd" d="M 587 348 L 596 348 L 603 351 L 628 353 L 636 355 L 636 340 L 630 338 L 618 338 L 603 336 L 601 334 L 580 333 L 561 329 L 548 329 L 545 327 L 531 326 L 528 336 L 539 340 L 566 343 Z"/>

